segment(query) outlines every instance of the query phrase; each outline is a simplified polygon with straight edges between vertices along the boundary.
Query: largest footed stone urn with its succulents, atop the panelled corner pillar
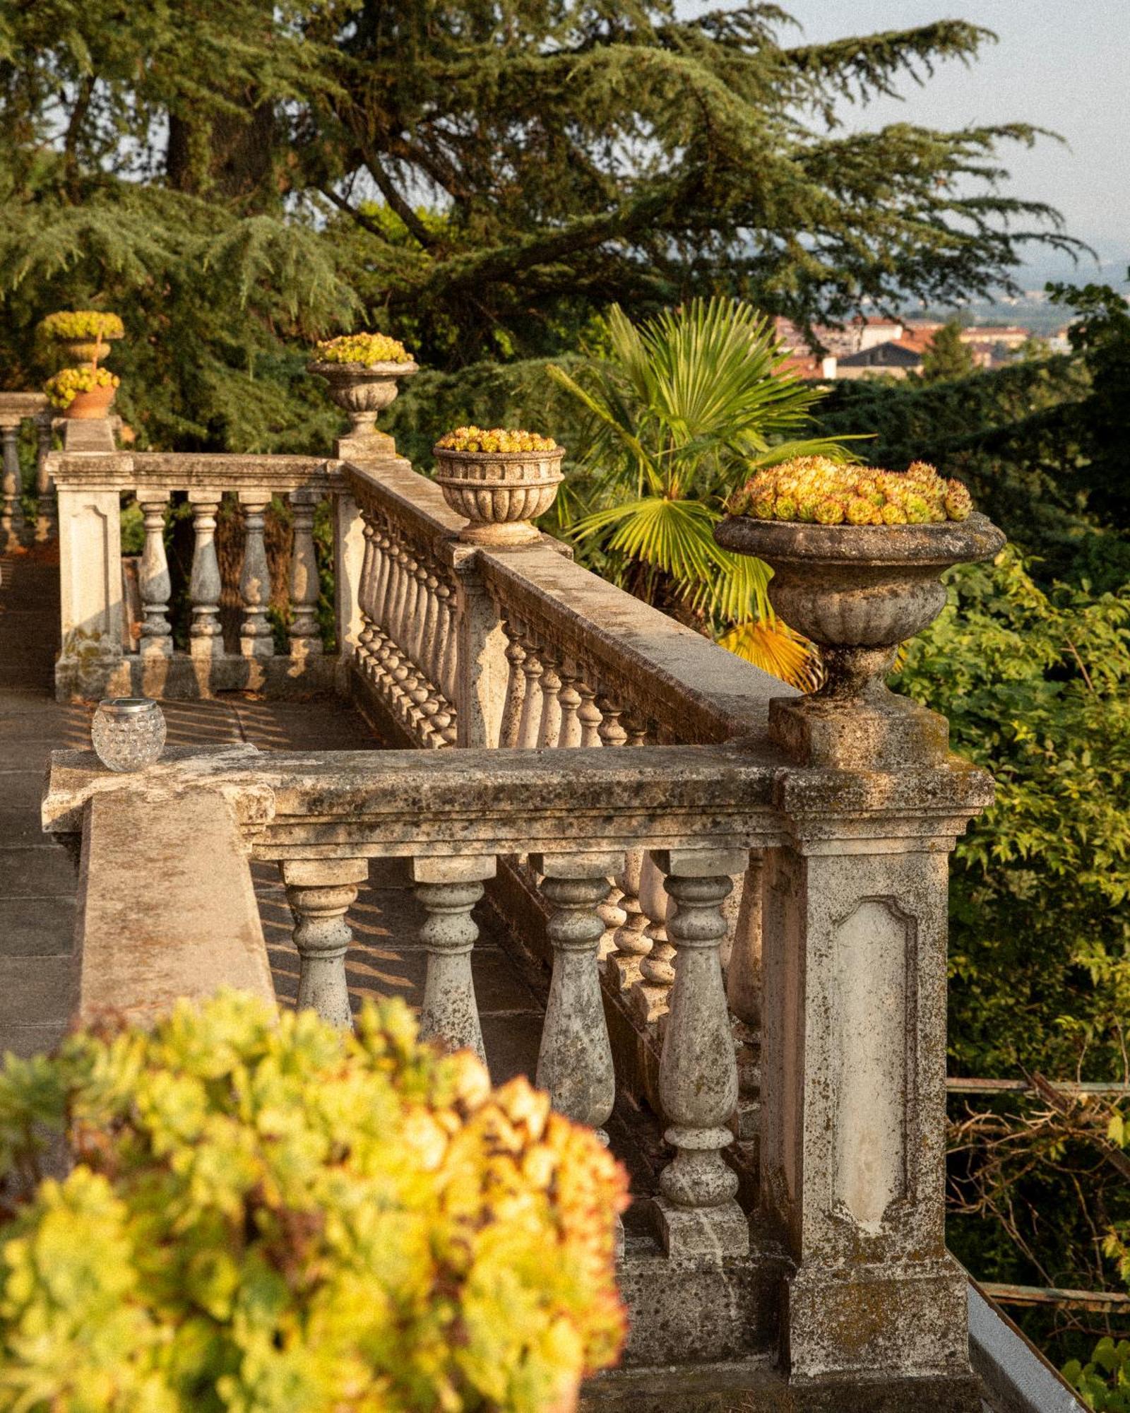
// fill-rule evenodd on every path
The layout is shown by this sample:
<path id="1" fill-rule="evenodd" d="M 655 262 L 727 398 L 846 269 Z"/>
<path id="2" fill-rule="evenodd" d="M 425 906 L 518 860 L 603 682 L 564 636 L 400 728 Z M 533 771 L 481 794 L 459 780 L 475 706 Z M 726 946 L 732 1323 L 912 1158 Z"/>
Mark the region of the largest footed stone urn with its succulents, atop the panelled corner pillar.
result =
<path id="1" fill-rule="evenodd" d="M 893 769 L 944 755 L 945 721 L 886 675 L 898 644 L 945 608 L 942 572 L 1004 547 L 965 486 L 921 461 L 891 472 L 802 456 L 759 471 L 726 509 L 718 543 L 773 568 L 770 603 L 823 660 L 819 691 L 771 704 L 774 736 L 812 764 Z"/>

